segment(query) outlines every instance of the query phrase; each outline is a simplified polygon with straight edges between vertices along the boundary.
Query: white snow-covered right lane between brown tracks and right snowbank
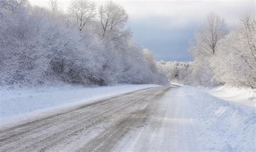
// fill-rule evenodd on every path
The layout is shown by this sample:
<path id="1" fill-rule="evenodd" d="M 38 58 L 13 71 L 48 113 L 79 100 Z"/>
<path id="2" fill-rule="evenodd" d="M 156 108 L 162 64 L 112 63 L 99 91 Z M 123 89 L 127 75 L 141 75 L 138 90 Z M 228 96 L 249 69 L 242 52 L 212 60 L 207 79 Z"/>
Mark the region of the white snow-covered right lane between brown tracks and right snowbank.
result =
<path id="1" fill-rule="evenodd" d="M 132 130 L 115 147 L 118 151 L 198 150 L 194 120 L 181 87 L 171 88 L 154 106 L 144 127 Z"/>

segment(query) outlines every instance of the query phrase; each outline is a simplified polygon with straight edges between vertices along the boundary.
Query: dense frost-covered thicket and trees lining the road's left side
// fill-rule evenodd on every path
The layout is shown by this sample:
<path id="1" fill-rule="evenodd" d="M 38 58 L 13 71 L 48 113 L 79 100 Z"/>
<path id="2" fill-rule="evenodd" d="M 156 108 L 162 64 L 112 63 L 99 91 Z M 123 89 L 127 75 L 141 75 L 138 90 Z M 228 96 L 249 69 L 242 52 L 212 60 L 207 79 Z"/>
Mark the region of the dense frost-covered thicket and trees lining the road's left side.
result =
<path id="1" fill-rule="evenodd" d="M 133 42 L 112 1 L 73 0 L 67 12 L 26 0 L 0 2 L 0 85 L 167 85 L 152 53 Z"/>

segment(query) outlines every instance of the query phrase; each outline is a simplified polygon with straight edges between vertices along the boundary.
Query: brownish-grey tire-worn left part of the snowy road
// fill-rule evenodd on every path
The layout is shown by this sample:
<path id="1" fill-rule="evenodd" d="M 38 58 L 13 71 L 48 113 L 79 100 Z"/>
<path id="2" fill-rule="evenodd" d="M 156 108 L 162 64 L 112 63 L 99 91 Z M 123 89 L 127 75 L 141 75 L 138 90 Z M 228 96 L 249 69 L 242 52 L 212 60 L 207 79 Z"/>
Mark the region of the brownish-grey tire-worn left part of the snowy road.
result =
<path id="1" fill-rule="evenodd" d="M 0 129 L 1 151 L 109 151 L 149 123 L 170 87 L 99 100 L 65 113 Z"/>

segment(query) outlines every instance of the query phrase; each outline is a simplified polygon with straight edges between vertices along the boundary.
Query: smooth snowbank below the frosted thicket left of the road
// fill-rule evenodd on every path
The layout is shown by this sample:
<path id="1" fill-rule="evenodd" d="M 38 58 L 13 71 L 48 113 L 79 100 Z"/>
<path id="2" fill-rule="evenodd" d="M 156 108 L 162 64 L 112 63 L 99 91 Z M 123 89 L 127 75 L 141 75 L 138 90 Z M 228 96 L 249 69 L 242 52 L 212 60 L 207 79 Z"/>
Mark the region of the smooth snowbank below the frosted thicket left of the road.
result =
<path id="1" fill-rule="evenodd" d="M 158 85 L 118 85 L 106 87 L 58 86 L 36 88 L 0 88 L 0 120 L 38 110 L 87 103 L 92 100 L 156 87 Z"/>

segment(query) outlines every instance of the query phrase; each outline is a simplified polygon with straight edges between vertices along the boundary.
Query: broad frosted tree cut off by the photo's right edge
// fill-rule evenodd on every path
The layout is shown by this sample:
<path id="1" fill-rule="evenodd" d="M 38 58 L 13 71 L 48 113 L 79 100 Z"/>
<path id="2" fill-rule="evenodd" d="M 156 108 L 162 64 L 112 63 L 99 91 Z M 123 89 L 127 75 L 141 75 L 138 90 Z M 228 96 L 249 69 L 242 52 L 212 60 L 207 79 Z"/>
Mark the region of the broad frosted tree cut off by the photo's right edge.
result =
<path id="1" fill-rule="evenodd" d="M 212 61 L 214 78 L 224 84 L 256 88 L 255 15 L 241 17 Z"/>

